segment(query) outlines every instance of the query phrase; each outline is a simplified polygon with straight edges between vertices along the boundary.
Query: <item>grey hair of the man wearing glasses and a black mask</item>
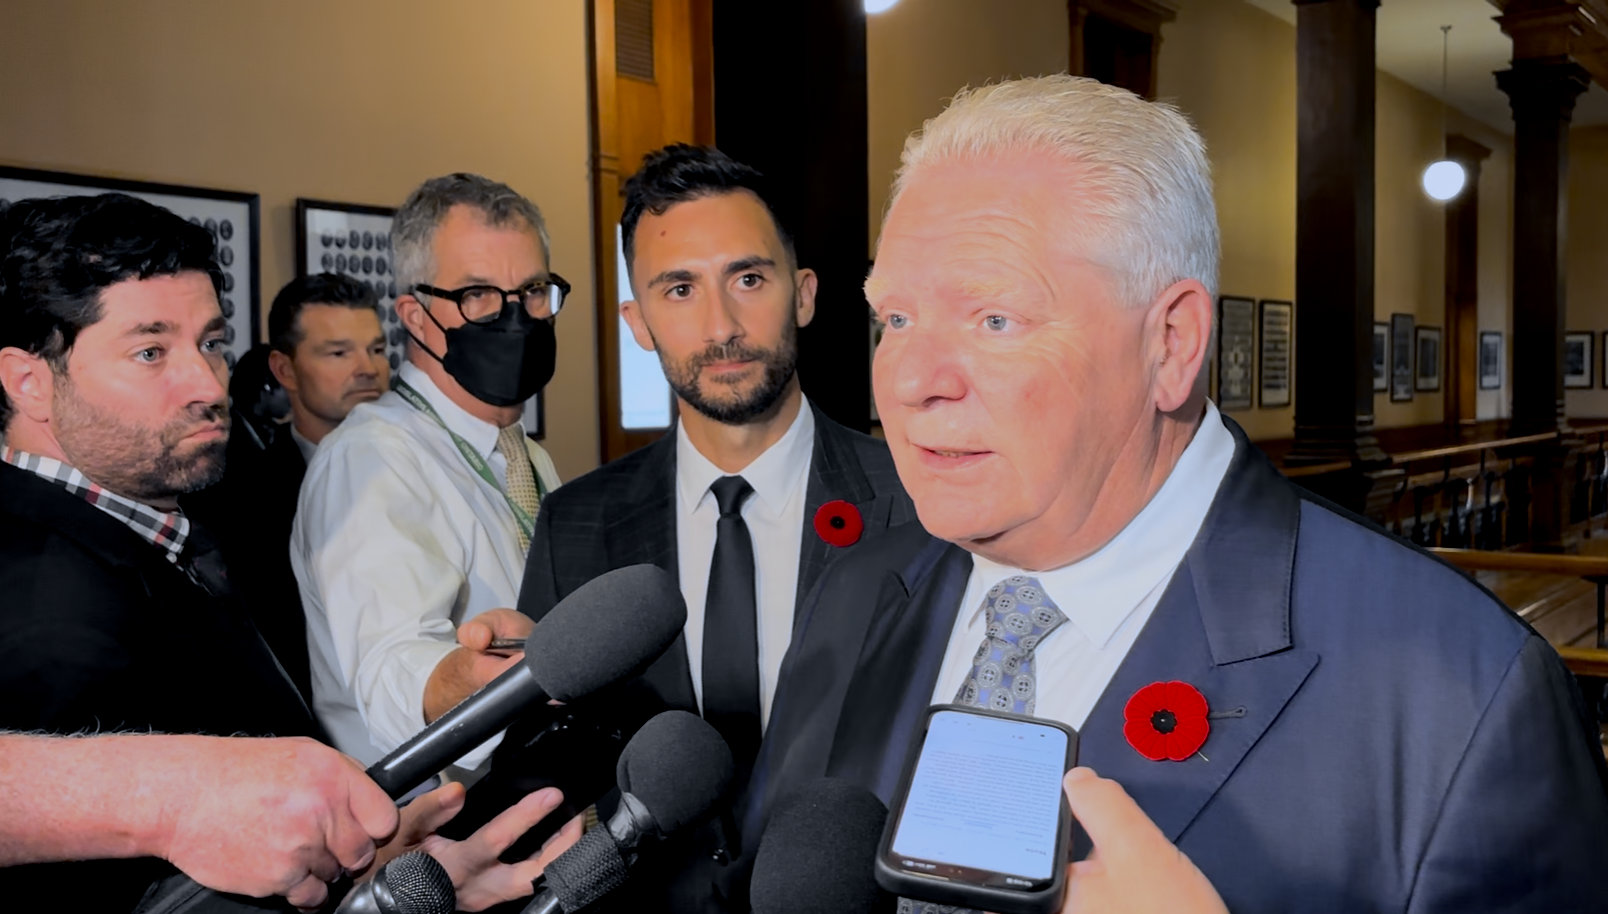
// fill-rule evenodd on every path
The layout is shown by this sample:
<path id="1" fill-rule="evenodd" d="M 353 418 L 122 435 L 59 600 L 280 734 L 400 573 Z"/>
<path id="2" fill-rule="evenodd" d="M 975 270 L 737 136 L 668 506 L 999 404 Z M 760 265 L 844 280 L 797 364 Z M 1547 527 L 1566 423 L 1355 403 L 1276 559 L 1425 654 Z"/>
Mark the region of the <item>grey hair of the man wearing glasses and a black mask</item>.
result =
<path id="1" fill-rule="evenodd" d="M 433 177 L 408 195 L 391 220 L 391 249 L 399 291 L 412 291 L 436 277 L 431 243 L 436 228 L 453 206 L 478 209 L 489 225 L 503 227 L 524 222 L 542 238 L 542 256 L 552 262 L 553 245 L 547 222 L 534 203 L 507 183 L 478 174 L 455 172 Z"/>

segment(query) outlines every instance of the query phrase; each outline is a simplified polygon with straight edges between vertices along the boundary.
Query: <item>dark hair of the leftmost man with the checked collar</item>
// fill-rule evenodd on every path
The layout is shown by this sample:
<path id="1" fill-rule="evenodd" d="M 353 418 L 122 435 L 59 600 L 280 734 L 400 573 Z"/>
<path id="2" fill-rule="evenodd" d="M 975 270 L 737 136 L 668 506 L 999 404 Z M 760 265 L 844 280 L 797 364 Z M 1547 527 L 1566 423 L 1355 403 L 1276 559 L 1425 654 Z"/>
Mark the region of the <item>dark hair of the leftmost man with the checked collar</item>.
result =
<path id="1" fill-rule="evenodd" d="M 206 274 L 224 288 L 212 235 L 127 193 L 0 206 L 0 349 L 66 372 L 79 331 L 101 319 L 101 291 L 124 280 Z M 0 389 L 0 428 L 11 402 Z"/>

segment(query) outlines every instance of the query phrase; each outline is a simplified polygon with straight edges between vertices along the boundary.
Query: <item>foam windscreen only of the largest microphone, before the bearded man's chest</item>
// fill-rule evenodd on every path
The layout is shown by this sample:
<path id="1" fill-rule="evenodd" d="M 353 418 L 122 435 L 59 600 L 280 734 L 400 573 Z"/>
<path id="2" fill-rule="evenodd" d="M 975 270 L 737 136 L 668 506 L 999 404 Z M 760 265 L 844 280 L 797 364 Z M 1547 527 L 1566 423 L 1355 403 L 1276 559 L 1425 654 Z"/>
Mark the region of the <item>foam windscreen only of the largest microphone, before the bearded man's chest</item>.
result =
<path id="1" fill-rule="evenodd" d="M 524 661 L 550 698 L 572 702 L 640 674 L 685 624 L 675 579 L 654 565 L 627 565 L 576 587 L 542 616 Z"/>

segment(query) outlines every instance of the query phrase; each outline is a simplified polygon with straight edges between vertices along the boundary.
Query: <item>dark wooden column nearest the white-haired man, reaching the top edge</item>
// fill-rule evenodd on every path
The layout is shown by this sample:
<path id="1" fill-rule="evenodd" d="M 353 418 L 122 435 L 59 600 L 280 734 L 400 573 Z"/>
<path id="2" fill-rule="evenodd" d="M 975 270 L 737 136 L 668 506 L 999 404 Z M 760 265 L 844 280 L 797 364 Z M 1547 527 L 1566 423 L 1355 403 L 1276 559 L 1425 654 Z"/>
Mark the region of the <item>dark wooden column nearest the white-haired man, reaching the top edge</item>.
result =
<path id="1" fill-rule="evenodd" d="M 1296 3 L 1291 465 L 1384 462 L 1373 439 L 1373 27 L 1378 0 Z M 1356 499 L 1343 499 L 1356 505 Z"/>

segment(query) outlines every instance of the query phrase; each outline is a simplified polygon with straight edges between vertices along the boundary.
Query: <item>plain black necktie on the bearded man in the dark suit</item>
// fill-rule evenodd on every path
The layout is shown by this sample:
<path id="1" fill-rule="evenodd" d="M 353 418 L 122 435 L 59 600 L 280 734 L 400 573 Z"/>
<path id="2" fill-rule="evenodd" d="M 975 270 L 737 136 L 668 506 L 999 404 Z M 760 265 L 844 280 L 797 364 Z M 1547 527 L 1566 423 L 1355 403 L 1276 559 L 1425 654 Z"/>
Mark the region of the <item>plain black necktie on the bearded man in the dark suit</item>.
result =
<path id="1" fill-rule="evenodd" d="M 725 737 L 740 771 L 759 753 L 759 618 L 754 611 L 754 541 L 743 502 L 754 492 L 741 476 L 709 486 L 720 507 L 704 597 L 704 719 Z"/>

